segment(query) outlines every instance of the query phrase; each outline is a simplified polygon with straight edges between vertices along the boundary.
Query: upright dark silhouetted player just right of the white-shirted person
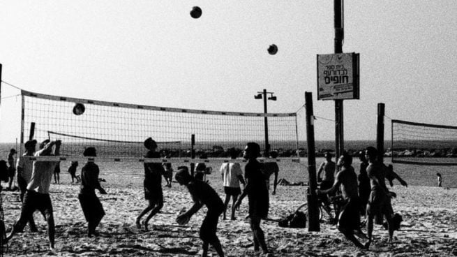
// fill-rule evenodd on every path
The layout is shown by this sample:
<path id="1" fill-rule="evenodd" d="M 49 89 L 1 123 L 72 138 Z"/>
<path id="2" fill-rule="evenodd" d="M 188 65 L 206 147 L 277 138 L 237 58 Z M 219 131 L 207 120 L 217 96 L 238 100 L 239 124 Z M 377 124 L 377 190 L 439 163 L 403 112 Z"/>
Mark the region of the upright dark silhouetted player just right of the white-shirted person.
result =
<path id="1" fill-rule="evenodd" d="M 254 251 L 259 251 L 259 247 L 261 247 L 263 253 L 266 256 L 270 256 L 264 232 L 260 228 L 260 221 L 267 219 L 268 216 L 269 193 L 262 173 L 262 165 L 257 161 L 258 156 L 260 156 L 260 146 L 255 142 L 248 142 L 244 149 L 244 159 L 248 161 L 244 168 L 246 186 L 234 207 L 239 207 L 243 198 L 248 196 L 250 229 L 253 231 Z"/>

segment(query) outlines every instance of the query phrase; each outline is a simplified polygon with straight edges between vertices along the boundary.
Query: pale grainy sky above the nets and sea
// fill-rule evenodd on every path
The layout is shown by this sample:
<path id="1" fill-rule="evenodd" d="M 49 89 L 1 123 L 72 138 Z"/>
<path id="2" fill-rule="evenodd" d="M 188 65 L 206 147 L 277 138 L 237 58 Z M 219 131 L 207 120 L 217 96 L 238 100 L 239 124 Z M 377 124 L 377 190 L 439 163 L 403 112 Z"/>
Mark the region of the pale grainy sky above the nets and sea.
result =
<path id="1" fill-rule="evenodd" d="M 3 0 L 1 79 L 42 94 L 233 112 L 263 112 L 253 97 L 263 89 L 278 98 L 269 112 L 296 112 L 310 91 L 315 138 L 334 140 L 334 101 L 317 101 L 316 65 L 317 54 L 334 53 L 333 5 Z M 344 101 L 345 140 L 375 140 L 377 103 L 386 131 L 389 119 L 457 126 L 456 13 L 455 0 L 345 1 L 343 52 L 360 54 L 360 99 Z M 0 142 L 13 142 L 18 115 L 8 107 L 20 98 L 5 83 L 1 90 Z"/>

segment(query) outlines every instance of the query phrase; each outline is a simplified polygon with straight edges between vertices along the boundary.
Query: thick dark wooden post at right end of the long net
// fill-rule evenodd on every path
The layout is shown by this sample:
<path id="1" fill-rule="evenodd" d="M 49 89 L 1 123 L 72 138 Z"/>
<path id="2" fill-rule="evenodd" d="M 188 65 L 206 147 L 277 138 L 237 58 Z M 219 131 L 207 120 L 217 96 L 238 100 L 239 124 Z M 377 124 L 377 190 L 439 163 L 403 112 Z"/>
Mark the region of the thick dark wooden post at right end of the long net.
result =
<path id="1" fill-rule="evenodd" d="M 308 231 L 320 231 L 319 212 L 317 212 L 317 176 L 314 142 L 313 94 L 305 92 L 306 142 L 308 143 Z"/>

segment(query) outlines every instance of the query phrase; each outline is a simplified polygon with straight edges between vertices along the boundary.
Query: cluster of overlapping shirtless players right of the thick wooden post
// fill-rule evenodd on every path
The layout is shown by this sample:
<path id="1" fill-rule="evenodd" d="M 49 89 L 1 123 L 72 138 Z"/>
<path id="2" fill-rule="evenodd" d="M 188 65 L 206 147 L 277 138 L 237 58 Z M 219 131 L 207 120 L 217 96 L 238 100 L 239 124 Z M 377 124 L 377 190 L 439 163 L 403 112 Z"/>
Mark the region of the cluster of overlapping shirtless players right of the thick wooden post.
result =
<path id="1" fill-rule="evenodd" d="M 316 190 L 318 196 L 332 194 L 340 191 L 344 205 L 339 210 L 337 227 L 347 239 L 361 249 L 369 249 L 373 241 L 373 223 L 383 224 L 384 217 L 389 230 L 389 242 L 393 240 L 394 230 L 400 226 L 401 216 L 394 214 L 391 198 L 396 197 L 394 192 L 389 191 L 385 180 L 398 179 L 400 184 L 407 183 L 394 172 L 391 165 L 385 166 L 380 161 L 380 152 L 375 147 L 367 147 L 360 153 L 360 172 L 357 176 L 352 167 L 352 156 L 343 153 L 337 163 L 331 161 L 331 154 L 325 154 L 327 159 L 318 170 L 318 177 L 324 173 L 320 189 Z M 336 166 L 340 171 L 334 176 Z M 367 235 L 361 231 L 360 214 L 366 215 Z M 362 244 L 357 237 L 367 240 Z"/>

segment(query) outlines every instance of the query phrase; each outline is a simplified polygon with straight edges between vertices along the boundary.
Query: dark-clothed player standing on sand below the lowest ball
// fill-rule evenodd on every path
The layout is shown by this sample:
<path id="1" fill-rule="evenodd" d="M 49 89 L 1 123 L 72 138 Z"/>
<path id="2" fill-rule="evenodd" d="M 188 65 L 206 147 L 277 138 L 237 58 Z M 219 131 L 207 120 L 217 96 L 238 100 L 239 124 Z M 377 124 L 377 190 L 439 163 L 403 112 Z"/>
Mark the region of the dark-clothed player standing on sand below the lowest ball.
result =
<path id="1" fill-rule="evenodd" d="M 96 157 L 96 149 L 94 147 L 88 147 L 82 154 L 86 157 Z M 78 198 L 80 199 L 82 212 L 87 221 L 87 236 L 98 235 L 96 228 L 103 216 L 105 216 L 105 210 L 103 205 L 96 196 L 95 189 L 98 189 L 101 194 L 106 194 L 105 189 L 102 188 L 98 181 L 98 174 L 100 169 L 93 163 L 88 161 L 81 170 L 81 190 Z"/>

